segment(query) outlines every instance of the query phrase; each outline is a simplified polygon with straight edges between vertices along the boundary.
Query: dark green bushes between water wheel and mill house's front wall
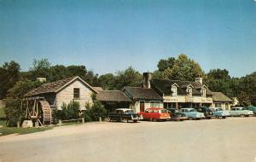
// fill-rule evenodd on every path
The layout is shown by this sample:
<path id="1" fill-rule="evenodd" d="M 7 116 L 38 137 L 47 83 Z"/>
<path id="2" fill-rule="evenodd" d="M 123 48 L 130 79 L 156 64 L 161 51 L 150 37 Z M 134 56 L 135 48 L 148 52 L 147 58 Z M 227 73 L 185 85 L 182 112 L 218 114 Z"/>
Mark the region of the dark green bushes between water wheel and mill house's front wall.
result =
<path id="1" fill-rule="evenodd" d="M 63 104 L 61 107 L 62 110 L 54 111 L 55 121 L 58 119 L 68 120 L 68 119 L 79 119 L 79 102 L 70 101 L 69 104 Z"/>

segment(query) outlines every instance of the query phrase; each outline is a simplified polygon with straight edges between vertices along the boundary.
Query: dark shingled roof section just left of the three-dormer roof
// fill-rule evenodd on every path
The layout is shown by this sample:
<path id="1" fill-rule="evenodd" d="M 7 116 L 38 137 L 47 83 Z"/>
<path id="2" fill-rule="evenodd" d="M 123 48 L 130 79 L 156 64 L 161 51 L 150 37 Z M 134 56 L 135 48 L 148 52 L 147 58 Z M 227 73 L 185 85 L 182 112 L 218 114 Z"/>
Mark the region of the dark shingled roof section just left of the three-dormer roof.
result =
<path id="1" fill-rule="evenodd" d="M 126 91 L 133 99 L 143 100 L 163 100 L 153 89 L 147 89 L 142 87 L 125 87 L 123 91 Z M 125 93 L 126 94 L 126 93 Z"/>

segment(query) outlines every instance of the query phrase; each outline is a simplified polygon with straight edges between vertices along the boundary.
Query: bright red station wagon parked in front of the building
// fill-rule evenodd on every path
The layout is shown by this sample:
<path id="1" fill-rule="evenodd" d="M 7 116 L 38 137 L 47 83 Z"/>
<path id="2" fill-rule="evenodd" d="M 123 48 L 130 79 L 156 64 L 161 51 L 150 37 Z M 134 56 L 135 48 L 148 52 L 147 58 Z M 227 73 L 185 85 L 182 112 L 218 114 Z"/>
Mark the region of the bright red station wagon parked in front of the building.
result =
<path id="1" fill-rule="evenodd" d="M 171 119 L 170 114 L 164 108 L 147 108 L 145 112 L 137 113 L 145 120 L 160 121 Z"/>

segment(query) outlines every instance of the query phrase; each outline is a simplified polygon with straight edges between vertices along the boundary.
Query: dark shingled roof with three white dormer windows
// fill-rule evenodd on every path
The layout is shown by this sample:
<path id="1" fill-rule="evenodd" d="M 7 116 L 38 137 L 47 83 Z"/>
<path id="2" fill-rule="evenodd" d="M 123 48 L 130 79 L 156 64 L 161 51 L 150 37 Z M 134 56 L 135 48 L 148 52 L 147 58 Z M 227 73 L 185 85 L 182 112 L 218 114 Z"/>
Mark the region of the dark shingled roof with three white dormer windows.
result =
<path id="1" fill-rule="evenodd" d="M 152 79 L 151 81 L 152 86 L 157 89 L 160 93 L 169 95 L 172 94 L 172 84 L 177 84 L 177 95 L 186 95 L 187 86 L 191 85 L 193 88 L 192 94 L 193 95 L 201 95 L 201 88 L 205 85 L 200 84 L 198 82 L 192 81 L 180 81 L 180 80 L 162 80 L 162 79 Z M 207 95 L 212 95 L 212 91 L 207 89 Z"/>

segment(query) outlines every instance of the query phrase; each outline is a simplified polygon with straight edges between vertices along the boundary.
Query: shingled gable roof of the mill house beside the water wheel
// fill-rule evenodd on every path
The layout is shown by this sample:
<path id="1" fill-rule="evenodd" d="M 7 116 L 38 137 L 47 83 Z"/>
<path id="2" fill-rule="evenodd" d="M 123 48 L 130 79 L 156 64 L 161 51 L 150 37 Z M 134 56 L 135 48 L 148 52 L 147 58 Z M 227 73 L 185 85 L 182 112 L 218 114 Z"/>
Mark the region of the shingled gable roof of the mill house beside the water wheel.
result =
<path id="1" fill-rule="evenodd" d="M 30 90 L 28 93 L 26 93 L 25 96 L 35 96 L 35 95 L 42 95 L 42 94 L 48 94 L 48 93 L 57 93 L 58 90 L 61 90 L 61 88 L 63 88 L 64 86 L 66 86 L 69 83 L 72 83 L 76 79 L 79 79 L 84 84 L 86 84 L 88 87 L 90 87 L 91 90 L 94 90 L 96 93 L 98 93 L 89 84 L 87 84 L 82 78 L 79 78 L 78 76 L 76 76 L 76 77 L 57 80 L 55 82 L 50 82 L 47 84 L 42 84 L 38 88 Z"/>

